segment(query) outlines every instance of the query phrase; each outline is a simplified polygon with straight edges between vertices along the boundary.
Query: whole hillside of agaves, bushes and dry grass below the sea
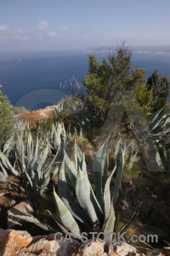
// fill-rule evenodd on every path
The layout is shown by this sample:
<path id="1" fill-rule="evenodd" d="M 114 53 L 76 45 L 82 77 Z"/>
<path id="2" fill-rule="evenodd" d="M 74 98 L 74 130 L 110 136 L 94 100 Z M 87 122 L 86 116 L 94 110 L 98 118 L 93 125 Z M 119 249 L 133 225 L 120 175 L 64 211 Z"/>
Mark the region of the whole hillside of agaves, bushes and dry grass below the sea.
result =
<path id="1" fill-rule="evenodd" d="M 14 110 L 1 88 L 1 228 L 15 196 L 34 205 L 17 216 L 32 235 L 126 231 L 159 238 L 135 247 L 169 245 L 169 81 L 146 81 L 131 55 L 125 44 L 100 64 L 89 55 L 82 86 L 54 108 Z"/>

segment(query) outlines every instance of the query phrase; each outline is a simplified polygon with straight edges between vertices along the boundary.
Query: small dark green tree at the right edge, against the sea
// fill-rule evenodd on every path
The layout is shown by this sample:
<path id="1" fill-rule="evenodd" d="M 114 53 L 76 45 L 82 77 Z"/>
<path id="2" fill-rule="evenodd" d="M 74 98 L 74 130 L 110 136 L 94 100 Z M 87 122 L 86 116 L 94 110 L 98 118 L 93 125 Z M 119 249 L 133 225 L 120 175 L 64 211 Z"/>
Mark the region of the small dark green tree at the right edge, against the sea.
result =
<path id="1" fill-rule="evenodd" d="M 152 107 L 154 111 L 163 108 L 163 112 L 167 110 L 167 97 L 169 96 L 169 81 L 165 76 L 160 76 L 155 70 L 147 80 L 147 87 L 153 92 Z"/>

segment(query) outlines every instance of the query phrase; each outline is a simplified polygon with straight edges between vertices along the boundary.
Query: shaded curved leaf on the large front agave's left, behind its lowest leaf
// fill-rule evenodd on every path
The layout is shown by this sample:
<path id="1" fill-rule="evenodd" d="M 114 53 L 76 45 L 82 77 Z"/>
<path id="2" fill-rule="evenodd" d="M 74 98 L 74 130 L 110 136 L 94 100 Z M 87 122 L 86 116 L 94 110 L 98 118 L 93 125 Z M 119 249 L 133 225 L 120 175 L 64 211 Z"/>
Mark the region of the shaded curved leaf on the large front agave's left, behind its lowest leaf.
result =
<path id="1" fill-rule="evenodd" d="M 60 172 L 59 172 L 59 179 L 58 179 L 59 195 L 62 201 L 64 201 L 65 206 L 71 212 L 72 216 L 74 218 L 77 218 L 77 220 L 79 220 L 80 222 L 88 225 L 89 220 L 86 217 L 85 212 L 82 210 L 81 207 L 77 205 L 77 203 L 74 200 L 74 197 L 71 195 L 71 191 L 67 187 L 64 169 L 65 169 L 65 161 L 63 160 L 60 168 Z"/>

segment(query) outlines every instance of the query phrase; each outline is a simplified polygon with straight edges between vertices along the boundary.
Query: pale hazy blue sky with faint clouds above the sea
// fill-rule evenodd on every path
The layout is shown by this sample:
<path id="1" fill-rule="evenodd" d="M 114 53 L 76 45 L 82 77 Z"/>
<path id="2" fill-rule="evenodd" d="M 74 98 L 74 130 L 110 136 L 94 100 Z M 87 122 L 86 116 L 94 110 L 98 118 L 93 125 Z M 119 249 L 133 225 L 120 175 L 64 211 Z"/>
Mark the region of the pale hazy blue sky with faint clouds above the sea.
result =
<path id="1" fill-rule="evenodd" d="M 0 0 L 0 51 L 170 45 L 170 0 Z"/>

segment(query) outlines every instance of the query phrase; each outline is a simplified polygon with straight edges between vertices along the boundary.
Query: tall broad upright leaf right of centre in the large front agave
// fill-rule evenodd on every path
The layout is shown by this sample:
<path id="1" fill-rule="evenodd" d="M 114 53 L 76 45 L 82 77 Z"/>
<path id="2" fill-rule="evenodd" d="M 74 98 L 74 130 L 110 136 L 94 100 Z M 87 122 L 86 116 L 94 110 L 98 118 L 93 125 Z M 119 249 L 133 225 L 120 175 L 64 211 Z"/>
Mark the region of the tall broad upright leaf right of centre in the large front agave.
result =
<path id="1" fill-rule="evenodd" d="M 93 173 L 94 173 L 94 184 L 95 184 L 95 193 L 96 198 L 99 201 L 99 205 L 103 209 L 103 195 L 102 195 L 102 176 L 105 169 L 105 161 L 107 156 L 107 143 L 108 139 L 105 143 L 99 148 L 98 152 L 94 156 L 93 163 Z"/>

